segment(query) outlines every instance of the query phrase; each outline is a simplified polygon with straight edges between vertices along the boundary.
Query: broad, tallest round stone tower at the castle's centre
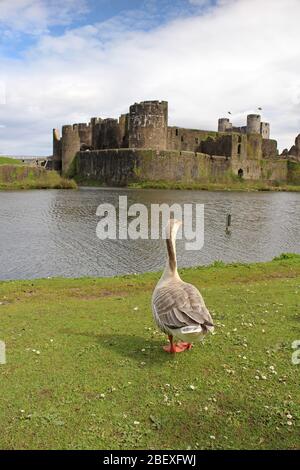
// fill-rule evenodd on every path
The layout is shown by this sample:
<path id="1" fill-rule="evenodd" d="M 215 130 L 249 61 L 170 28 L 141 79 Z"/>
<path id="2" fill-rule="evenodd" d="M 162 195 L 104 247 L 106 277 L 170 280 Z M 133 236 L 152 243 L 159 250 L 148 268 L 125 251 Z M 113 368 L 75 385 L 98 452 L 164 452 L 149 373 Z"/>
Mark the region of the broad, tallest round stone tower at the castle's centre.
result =
<path id="1" fill-rule="evenodd" d="M 167 148 L 168 102 L 142 101 L 129 108 L 129 148 Z"/>

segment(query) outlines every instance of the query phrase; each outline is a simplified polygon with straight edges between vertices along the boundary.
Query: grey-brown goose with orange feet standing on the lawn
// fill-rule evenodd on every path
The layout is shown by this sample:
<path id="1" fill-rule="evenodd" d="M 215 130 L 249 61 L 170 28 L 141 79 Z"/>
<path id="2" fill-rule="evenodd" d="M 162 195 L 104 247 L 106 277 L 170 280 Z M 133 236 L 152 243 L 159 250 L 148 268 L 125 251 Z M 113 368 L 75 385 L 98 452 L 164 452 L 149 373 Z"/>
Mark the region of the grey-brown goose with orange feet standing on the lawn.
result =
<path id="1" fill-rule="evenodd" d="M 181 222 L 170 219 L 166 226 L 167 263 L 152 295 L 152 312 L 158 328 L 168 335 L 169 344 L 163 349 L 179 353 L 192 348 L 213 332 L 211 315 L 198 289 L 184 282 L 177 271 L 175 240 Z M 175 343 L 174 338 L 182 340 Z"/>

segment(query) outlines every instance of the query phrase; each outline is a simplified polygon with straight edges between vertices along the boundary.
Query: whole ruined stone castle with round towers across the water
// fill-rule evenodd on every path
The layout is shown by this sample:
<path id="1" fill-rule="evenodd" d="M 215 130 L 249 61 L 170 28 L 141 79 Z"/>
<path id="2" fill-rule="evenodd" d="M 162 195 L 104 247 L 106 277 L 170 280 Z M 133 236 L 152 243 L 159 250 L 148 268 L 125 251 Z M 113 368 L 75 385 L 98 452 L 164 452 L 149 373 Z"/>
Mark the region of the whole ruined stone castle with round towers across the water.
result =
<path id="1" fill-rule="evenodd" d="M 218 131 L 168 125 L 166 101 L 143 101 L 119 119 L 91 118 L 53 130 L 52 168 L 108 185 L 138 181 L 288 181 L 300 162 L 300 136 L 279 155 L 270 125 L 259 114 L 235 127 L 220 118 Z M 292 168 L 293 170 L 293 168 Z"/>

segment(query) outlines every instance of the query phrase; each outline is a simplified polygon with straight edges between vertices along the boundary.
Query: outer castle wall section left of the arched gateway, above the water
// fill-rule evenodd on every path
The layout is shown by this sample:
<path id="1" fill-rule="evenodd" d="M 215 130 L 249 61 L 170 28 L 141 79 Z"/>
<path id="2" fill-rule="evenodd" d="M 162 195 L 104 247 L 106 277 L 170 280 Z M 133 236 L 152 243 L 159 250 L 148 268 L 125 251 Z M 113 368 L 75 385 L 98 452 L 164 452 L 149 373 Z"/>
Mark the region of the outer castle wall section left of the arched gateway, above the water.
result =
<path id="1" fill-rule="evenodd" d="M 223 181 L 230 160 L 194 152 L 138 149 L 78 152 L 72 174 L 82 180 L 126 186 L 139 181 Z"/>

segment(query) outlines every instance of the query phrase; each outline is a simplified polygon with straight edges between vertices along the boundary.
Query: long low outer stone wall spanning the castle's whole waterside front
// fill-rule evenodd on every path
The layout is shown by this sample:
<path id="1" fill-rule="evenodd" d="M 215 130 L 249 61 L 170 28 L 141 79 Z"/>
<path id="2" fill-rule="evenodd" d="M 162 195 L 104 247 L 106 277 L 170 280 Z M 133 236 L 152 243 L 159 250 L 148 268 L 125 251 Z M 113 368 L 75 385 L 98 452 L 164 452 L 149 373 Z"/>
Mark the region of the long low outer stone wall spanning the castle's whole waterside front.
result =
<path id="1" fill-rule="evenodd" d="M 230 183 L 245 180 L 300 184 L 300 164 L 279 159 L 242 159 L 176 150 L 115 149 L 78 152 L 69 176 L 108 186 L 142 181 Z"/>

